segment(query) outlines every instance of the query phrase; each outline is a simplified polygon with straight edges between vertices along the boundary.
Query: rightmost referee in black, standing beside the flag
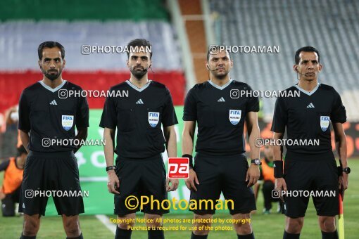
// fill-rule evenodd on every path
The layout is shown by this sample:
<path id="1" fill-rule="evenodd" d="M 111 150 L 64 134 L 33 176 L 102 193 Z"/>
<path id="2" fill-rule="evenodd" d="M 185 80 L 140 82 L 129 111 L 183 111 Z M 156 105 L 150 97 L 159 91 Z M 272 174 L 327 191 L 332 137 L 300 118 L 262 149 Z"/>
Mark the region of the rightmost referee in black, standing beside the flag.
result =
<path id="1" fill-rule="evenodd" d="M 342 124 L 346 122 L 346 110 L 339 93 L 332 86 L 317 82 L 322 70 L 317 49 L 306 46 L 296 51 L 294 71 L 299 76 L 298 84 L 286 92 L 299 91 L 300 97 L 277 98 L 273 116 L 274 138 L 282 139 L 284 131 L 288 139 L 319 140 L 319 145 L 286 146 L 284 172 L 280 146 L 273 148 L 275 157 L 276 189 L 293 193 L 295 190 L 335 191 L 335 197 L 314 196 L 322 238 L 338 238 L 335 216 L 339 213 L 339 188 L 348 188 L 346 160 L 346 137 Z M 332 122 L 332 123 L 331 123 Z M 338 175 L 330 136 L 334 129 L 341 170 Z M 342 172 L 341 172 L 342 171 Z M 339 181 L 338 181 L 339 176 Z M 283 238 L 299 238 L 309 197 L 294 197 L 287 194 L 286 228 Z"/>

